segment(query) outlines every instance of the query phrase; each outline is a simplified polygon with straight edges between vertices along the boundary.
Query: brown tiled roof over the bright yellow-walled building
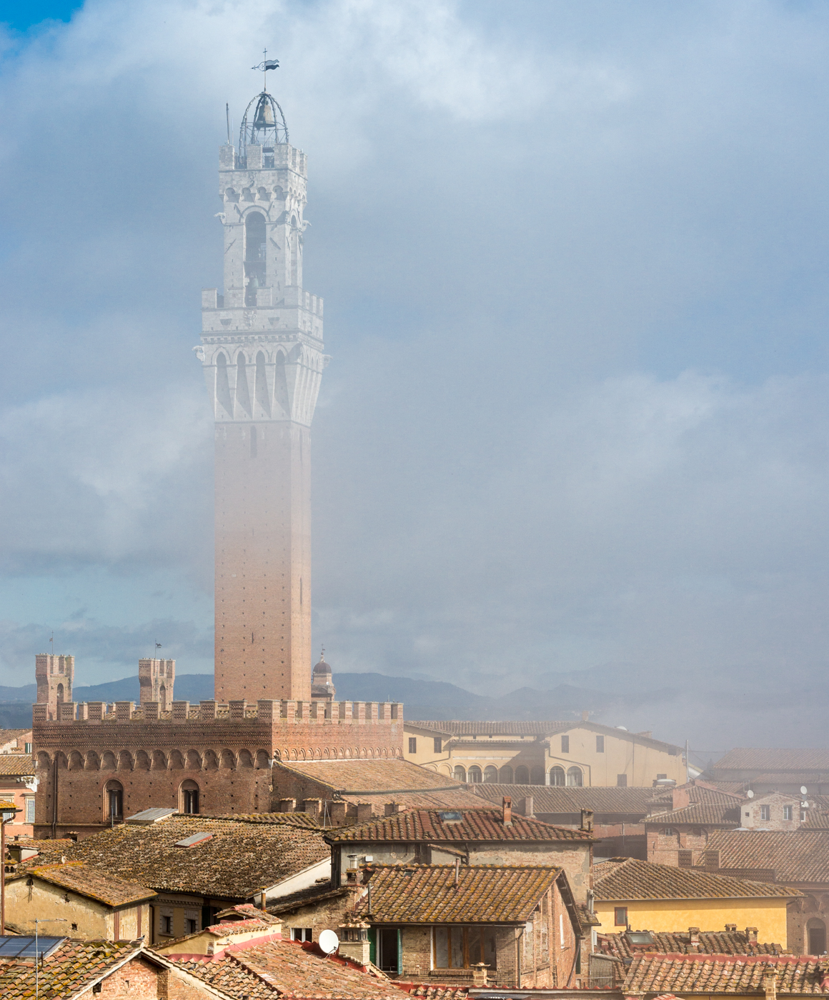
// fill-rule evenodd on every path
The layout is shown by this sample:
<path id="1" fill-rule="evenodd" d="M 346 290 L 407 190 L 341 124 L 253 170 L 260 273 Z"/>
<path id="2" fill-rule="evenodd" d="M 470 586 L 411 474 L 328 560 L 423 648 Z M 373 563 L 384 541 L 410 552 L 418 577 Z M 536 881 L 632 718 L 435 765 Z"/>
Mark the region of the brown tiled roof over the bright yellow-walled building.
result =
<path id="1" fill-rule="evenodd" d="M 708 846 L 710 848 L 711 841 Z M 731 866 L 729 866 L 731 867 Z M 638 858 L 612 858 L 593 866 L 597 900 L 750 899 L 799 896 L 796 889 L 768 882 L 749 882 L 690 868 L 656 865 Z"/>

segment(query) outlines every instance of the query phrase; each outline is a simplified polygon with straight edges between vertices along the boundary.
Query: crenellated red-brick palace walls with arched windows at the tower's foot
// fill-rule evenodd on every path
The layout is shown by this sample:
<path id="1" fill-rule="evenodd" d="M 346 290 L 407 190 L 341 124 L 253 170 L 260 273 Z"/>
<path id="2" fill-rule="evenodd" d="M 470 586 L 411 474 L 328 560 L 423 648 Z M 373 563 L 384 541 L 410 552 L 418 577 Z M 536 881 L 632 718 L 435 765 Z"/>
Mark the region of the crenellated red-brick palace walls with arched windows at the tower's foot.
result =
<path id="1" fill-rule="evenodd" d="M 390 702 L 66 702 L 33 706 L 35 836 L 85 836 L 151 807 L 264 813 L 275 760 L 403 756 L 403 706 Z M 55 792 L 57 788 L 57 792 Z M 110 793 L 121 795 L 112 815 Z"/>

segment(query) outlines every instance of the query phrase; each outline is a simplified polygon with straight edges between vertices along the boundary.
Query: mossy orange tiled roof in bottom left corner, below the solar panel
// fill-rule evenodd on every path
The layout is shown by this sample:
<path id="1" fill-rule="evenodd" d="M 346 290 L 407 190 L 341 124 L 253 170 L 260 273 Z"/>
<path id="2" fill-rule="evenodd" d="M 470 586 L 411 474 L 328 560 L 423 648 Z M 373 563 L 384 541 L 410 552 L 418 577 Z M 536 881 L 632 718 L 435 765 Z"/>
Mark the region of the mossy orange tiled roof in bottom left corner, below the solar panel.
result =
<path id="1" fill-rule="evenodd" d="M 44 959 L 40 967 L 40 996 L 49 1000 L 75 997 L 84 987 L 114 971 L 140 950 L 140 941 L 73 941 L 67 938 L 56 952 Z M 0 961 L 0 996 L 3 1000 L 30 1000 L 34 995 L 34 963 Z"/>

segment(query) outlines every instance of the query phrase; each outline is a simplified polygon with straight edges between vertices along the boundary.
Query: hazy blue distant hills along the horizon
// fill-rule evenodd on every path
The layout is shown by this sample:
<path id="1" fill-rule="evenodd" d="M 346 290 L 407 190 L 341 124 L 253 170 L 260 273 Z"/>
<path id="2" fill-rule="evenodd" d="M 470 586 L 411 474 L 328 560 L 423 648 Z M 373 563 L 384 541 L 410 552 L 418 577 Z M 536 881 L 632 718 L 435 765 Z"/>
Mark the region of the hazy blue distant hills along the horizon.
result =
<path id="1" fill-rule="evenodd" d="M 578 712 L 598 711 L 618 702 L 618 695 L 573 684 L 558 684 L 550 691 L 518 688 L 501 697 L 473 694 L 445 681 L 416 681 L 385 674 L 335 674 L 341 701 L 402 701 L 407 719 L 492 719 L 521 721 L 572 718 Z M 31 705 L 37 688 L 0 687 L 0 728 L 31 725 Z M 76 701 L 138 701 L 138 677 L 123 677 L 104 684 L 77 686 Z M 212 674 L 176 677 L 176 699 L 198 703 L 213 697 Z"/>

